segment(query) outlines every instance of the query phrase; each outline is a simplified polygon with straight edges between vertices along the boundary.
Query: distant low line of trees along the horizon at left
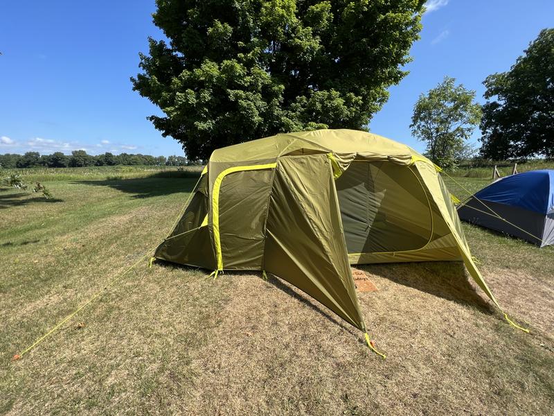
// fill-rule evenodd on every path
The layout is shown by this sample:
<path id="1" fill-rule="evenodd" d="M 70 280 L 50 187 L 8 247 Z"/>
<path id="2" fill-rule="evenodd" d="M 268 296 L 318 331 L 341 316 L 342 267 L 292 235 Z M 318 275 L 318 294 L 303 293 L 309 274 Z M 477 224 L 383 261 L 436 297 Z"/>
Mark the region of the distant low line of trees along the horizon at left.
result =
<path id="1" fill-rule="evenodd" d="M 114 155 L 89 155 L 84 150 L 74 150 L 71 155 L 55 152 L 52 155 L 40 155 L 38 152 L 27 152 L 24 155 L 8 153 L 0 155 L 0 168 L 66 168 L 84 166 L 185 166 L 194 164 L 183 156 L 150 156 L 129 153 Z"/>

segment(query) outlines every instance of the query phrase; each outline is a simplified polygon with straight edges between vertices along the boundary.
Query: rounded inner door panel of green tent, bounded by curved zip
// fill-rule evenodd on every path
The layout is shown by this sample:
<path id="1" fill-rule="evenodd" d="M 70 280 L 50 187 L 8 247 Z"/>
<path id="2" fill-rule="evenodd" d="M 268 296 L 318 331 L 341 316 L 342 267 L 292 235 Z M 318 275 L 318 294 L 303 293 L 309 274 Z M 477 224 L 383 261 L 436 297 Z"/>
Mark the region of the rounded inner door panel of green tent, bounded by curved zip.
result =
<path id="1" fill-rule="evenodd" d="M 349 253 L 418 250 L 431 239 L 425 189 L 408 167 L 355 161 L 336 186 Z"/>

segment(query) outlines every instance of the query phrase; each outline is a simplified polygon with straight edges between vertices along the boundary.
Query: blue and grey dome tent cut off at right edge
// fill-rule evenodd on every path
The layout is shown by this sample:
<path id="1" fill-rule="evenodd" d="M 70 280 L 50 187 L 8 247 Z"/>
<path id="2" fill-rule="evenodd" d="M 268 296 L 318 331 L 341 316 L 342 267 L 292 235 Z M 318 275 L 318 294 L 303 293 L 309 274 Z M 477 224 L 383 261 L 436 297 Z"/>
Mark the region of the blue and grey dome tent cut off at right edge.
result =
<path id="1" fill-rule="evenodd" d="M 554 245 L 554 170 L 502 177 L 465 200 L 458 216 L 540 247 Z"/>

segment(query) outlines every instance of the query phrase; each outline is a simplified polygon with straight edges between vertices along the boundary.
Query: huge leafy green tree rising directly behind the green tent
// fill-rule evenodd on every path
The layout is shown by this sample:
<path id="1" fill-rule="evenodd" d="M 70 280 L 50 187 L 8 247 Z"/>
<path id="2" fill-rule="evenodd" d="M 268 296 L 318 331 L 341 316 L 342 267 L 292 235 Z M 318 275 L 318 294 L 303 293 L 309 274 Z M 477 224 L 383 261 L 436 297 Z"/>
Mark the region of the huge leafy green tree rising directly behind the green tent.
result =
<path id="1" fill-rule="evenodd" d="M 133 87 L 189 159 L 277 132 L 366 128 L 406 75 L 423 0 L 157 0 Z"/>

